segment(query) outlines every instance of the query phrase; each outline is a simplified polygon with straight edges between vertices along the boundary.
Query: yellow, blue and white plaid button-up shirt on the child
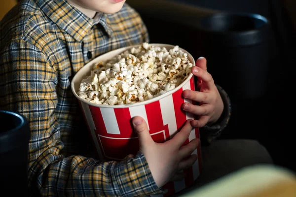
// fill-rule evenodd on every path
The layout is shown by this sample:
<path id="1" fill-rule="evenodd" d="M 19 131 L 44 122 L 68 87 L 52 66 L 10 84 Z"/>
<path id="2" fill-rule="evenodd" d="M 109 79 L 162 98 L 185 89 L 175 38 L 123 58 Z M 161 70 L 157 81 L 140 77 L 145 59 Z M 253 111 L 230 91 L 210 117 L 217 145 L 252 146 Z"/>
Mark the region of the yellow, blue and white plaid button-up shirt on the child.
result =
<path id="1" fill-rule="evenodd" d="M 122 162 L 87 156 L 91 142 L 83 137 L 87 127 L 70 87 L 74 74 L 93 58 L 144 41 L 146 27 L 127 4 L 90 19 L 66 0 L 23 0 L 2 19 L 0 108 L 30 122 L 31 195 L 162 193 L 141 152 Z"/>

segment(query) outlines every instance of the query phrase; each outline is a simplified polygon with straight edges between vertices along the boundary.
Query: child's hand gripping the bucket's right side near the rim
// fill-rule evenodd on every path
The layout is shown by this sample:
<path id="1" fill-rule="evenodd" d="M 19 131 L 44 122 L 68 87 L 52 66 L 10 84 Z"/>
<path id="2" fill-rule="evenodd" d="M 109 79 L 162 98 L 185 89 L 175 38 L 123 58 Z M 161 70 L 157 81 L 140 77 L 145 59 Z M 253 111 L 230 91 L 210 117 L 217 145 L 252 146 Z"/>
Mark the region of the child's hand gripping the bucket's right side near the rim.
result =
<path id="1" fill-rule="evenodd" d="M 199 58 L 191 72 L 198 77 L 196 91 L 185 90 L 183 97 L 197 101 L 199 105 L 186 102 L 182 109 L 197 116 L 197 120 L 191 121 L 191 126 L 200 128 L 215 123 L 220 118 L 224 105 L 212 75 L 207 72 L 206 59 Z"/>

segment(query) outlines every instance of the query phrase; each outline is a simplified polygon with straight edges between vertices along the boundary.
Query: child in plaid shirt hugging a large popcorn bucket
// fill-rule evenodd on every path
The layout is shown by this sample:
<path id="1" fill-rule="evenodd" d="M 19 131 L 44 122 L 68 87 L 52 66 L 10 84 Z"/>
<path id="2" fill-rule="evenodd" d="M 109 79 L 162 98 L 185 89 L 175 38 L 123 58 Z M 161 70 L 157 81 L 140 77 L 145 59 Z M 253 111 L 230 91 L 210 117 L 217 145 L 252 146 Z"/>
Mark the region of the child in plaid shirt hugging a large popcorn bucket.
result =
<path id="1" fill-rule="evenodd" d="M 93 58 L 148 42 L 140 16 L 124 1 L 23 0 L 1 21 L 0 107 L 19 112 L 30 122 L 28 179 L 33 196 L 163 194 L 161 187 L 182 179 L 180 171 L 196 160 L 194 155 L 184 158 L 198 140 L 180 149 L 192 126 L 216 124 L 207 137 L 211 140 L 228 121 L 229 101 L 223 91 L 220 96 L 201 58 L 199 67 L 192 69 L 201 79 L 200 92 L 184 92 L 201 105 L 183 105 L 199 120 L 187 121 L 173 140 L 156 144 L 145 121 L 136 117 L 133 124 L 141 147 L 137 155 L 120 163 L 89 157 L 91 142 L 83 138 L 87 131 L 70 82 Z"/>

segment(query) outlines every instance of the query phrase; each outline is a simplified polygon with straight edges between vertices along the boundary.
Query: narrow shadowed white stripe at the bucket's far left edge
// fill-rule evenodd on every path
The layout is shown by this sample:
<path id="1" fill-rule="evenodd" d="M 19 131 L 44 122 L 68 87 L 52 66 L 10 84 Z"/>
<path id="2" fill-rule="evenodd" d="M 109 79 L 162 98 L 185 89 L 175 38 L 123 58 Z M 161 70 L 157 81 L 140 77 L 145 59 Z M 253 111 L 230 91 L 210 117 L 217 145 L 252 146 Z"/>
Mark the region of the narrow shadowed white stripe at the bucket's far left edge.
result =
<path id="1" fill-rule="evenodd" d="M 79 101 L 79 102 L 81 102 L 81 101 Z M 89 106 L 88 106 L 88 104 L 86 104 L 84 102 L 81 102 L 81 106 L 82 106 L 82 109 L 84 111 L 84 115 L 85 115 L 86 121 L 88 123 L 91 136 L 92 136 L 93 141 L 95 143 L 95 146 L 96 146 L 96 148 L 98 150 L 97 152 L 99 154 L 99 158 L 100 158 L 101 161 L 104 161 L 104 158 L 103 158 L 103 155 L 102 155 L 102 152 L 101 152 L 101 148 L 100 148 L 100 145 L 99 145 L 99 142 L 98 142 L 98 139 L 97 139 L 97 135 L 95 133 L 95 130 L 97 130 L 97 129 L 96 129 L 94 120 L 92 118 Z"/>

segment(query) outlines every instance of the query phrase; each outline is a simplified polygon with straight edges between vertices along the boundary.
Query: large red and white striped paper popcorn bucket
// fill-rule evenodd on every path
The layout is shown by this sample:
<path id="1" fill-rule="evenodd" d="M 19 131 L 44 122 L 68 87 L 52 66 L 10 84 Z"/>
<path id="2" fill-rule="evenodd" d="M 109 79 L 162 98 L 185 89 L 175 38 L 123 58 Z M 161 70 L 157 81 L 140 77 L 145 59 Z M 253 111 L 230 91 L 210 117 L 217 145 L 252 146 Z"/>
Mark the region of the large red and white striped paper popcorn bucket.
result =
<path id="1" fill-rule="evenodd" d="M 168 50 L 174 48 L 173 45 L 168 44 L 151 45 L 165 47 Z M 102 105 L 91 103 L 78 97 L 77 92 L 79 91 L 81 80 L 90 75 L 90 71 L 95 63 L 110 60 L 112 57 L 137 46 L 139 45 L 120 48 L 95 58 L 83 66 L 75 74 L 71 82 L 72 91 L 78 99 L 99 158 L 102 161 L 121 160 L 129 154 L 137 154 L 139 139 L 131 125 L 131 119 L 135 116 L 141 116 L 146 120 L 150 135 L 155 142 L 169 140 L 187 119 L 194 119 L 192 114 L 185 113 L 181 109 L 182 103 L 191 102 L 191 100 L 182 97 L 182 92 L 186 89 L 195 90 L 192 73 L 175 89 L 159 97 L 142 102 L 125 105 Z M 195 66 L 193 57 L 184 49 L 180 49 L 188 54 L 188 60 Z M 194 138 L 199 138 L 198 129 L 193 129 L 190 132 L 185 143 Z M 164 196 L 173 195 L 189 187 L 199 176 L 202 167 L 200 145 L 192 154 L 196 154 L 198 160 L 192 167 L 185 170 L 186 178 L 184 180 L 169 182 L 162 187 L 168 190 Z"/>

